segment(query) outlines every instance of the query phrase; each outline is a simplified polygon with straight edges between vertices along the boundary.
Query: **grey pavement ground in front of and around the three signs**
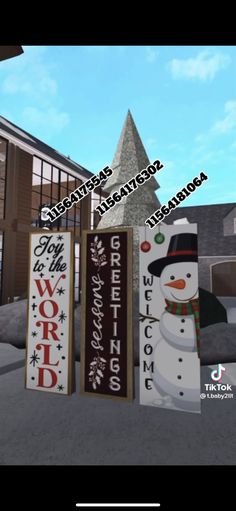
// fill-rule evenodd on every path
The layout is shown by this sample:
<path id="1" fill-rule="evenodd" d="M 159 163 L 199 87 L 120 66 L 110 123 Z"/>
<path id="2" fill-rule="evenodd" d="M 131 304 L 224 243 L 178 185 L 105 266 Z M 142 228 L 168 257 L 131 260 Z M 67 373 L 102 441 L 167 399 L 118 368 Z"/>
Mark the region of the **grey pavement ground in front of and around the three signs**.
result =
<path id="1" fill-rule="evenodd" d="M 0 358 L 6 345 L 0 345 Z M 24 359 L 24 350 L 15 350 Z M 76 382 L 80 364 L 76 363 Z M 202 391 L 210 370 L 201 368 Z M 235 465 L 234 399 L 202 400 L 202 414 L 24 388 L 24 368 L 0 374 L 0 465 Z"/>

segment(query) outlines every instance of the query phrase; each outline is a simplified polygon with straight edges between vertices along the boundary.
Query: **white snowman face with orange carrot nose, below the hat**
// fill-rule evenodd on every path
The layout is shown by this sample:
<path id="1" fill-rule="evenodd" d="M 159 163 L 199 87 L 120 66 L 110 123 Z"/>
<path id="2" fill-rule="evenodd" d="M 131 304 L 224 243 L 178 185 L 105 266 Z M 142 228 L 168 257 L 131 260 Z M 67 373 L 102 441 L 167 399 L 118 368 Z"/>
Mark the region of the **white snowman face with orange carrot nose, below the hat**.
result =
<path id="1" fill-rule="evenodd" d="M 169 264 L 161 274 L 160 287 L 164 297 L 172 302 L 188 302 L 198 298 L 198 264 Z"/>

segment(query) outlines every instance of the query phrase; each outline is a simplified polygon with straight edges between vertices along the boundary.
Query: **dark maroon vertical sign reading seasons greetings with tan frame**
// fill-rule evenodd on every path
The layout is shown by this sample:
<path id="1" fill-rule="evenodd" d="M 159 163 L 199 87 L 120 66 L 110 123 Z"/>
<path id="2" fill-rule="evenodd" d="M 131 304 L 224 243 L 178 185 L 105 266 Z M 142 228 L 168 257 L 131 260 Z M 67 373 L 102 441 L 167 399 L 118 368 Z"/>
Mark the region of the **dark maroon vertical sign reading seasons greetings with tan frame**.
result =
<path id="1" fill-rule="evenodd" d="M 133 398 L 132 230 L 83 233 L 81 391 Z"/>

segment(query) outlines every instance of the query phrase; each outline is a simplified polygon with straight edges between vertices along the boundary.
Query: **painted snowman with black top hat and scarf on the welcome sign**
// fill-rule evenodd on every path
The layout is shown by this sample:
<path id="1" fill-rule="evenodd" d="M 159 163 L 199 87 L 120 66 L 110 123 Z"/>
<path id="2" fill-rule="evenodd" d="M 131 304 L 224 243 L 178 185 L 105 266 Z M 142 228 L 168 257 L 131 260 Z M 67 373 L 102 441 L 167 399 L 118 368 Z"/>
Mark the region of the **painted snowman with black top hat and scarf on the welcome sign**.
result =
<path id="1" fill-rule="evenodd" d="M 154 384 L 179 409 L 200 412 L 199 300 L 197 235 L 170 239 L 166 257 L 149 264 L 160 278 L 166 308 L 154 356 Z"/>

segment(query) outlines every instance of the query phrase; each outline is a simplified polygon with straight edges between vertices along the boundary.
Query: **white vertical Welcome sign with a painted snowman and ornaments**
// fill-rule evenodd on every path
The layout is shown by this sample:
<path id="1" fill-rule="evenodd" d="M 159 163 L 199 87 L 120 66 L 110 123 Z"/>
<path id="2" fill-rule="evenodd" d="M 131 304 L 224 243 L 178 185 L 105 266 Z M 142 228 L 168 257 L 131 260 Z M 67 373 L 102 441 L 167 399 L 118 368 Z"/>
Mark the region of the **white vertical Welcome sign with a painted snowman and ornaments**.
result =
<path id="1" fill-rule="evenodd" d="M 139 233 L 140 403 L 200 413 L 197 224 Z"/>

